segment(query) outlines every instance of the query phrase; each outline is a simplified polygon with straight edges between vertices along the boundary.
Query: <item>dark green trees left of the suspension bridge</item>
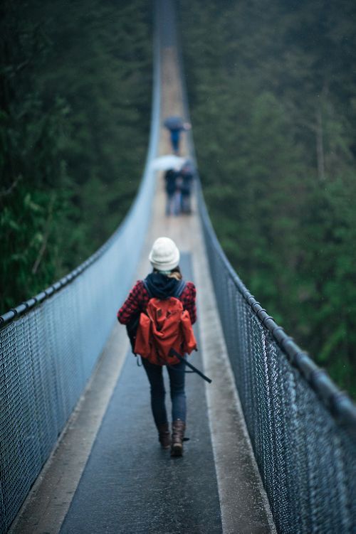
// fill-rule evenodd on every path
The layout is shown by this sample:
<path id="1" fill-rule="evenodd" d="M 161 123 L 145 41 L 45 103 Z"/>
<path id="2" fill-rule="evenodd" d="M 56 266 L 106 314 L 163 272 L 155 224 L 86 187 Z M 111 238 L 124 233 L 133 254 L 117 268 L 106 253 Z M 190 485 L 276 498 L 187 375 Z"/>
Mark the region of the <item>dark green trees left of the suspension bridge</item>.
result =
<path id="1" fill-rule="evenodd" d="M 150 122 L 144 0 L 7 0 L 0 23 L 0 310 L 83 262 L 127 213 Z"/>

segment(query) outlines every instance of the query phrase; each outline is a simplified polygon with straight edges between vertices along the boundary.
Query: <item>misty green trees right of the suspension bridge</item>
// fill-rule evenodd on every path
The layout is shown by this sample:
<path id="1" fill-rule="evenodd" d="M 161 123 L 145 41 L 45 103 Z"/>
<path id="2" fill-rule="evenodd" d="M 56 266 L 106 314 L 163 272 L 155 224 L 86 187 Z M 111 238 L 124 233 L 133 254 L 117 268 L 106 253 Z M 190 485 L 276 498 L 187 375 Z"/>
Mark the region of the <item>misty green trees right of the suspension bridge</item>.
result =
<path id="1" fill-rule="evenodd" d="M 180 8 L 221 245 L 258 301 L 356 396 L 355 3 Z"/>

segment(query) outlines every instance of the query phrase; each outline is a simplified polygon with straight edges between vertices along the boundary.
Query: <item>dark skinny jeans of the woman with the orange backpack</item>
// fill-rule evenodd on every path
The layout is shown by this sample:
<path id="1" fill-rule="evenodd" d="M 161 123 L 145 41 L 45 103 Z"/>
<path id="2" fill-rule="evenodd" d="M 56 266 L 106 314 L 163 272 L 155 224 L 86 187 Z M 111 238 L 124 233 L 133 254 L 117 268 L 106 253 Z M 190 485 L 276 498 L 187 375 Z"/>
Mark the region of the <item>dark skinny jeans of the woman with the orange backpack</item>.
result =
<path id="1" fill-rule="evenodd" d="M 151 408 L 156 426 L 167 423 L 167 411 L 164 402 L 166 392 L 164 390 L 163 367 L 150 363 L 147 358 L 142 358 L 142 364 L 147 373 L 151 386 Z M 172 400 L 172 421 L 180 419 L 185 422 L 187 414 L 187 404 L 184 391 L 185 365 L 183 362 L 177 365 L 166 366 L 169 375 L 169 385 Z"/>

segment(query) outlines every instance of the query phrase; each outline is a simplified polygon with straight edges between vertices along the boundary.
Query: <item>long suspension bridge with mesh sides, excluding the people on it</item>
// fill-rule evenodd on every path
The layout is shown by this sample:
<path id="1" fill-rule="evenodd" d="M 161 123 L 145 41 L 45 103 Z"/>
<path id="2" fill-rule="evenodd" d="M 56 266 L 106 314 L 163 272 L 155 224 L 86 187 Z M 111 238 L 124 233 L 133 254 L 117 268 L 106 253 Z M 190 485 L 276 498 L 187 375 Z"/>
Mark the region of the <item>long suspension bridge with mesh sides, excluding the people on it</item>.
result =
<path id="1" fill-rule="evenodd" d="M 356 407 L 248 292 L 199 181 L 164 215 L 164 117 L 189 119 L 174 4 L 155 6 L 150 146 L 114 235 L 68 276 L 0 316 L 0 533 L 355 533 Z M 194 160 L 192 133 L 182 154 Z M 182 458 L 159 448 L 142 368 L 116 311 L 172 237 L 197 286 L 211 385 L 187 378 Z"/>

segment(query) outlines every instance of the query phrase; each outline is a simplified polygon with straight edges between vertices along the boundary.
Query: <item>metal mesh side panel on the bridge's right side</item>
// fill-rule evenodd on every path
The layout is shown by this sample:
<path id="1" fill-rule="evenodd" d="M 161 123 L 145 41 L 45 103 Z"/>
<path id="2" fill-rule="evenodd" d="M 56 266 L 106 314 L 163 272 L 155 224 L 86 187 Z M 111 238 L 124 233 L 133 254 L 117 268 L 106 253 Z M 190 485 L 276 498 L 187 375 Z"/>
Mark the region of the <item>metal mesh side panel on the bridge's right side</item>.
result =
<path id="1" fill-rule="evenodd" d="M 216 240 L 200 192 L 199 204 L 226 346 L 276 528 L 355 532 L 355 405 L 332 383 L 313 383 L 322 372 L 248 293 Z"/>

